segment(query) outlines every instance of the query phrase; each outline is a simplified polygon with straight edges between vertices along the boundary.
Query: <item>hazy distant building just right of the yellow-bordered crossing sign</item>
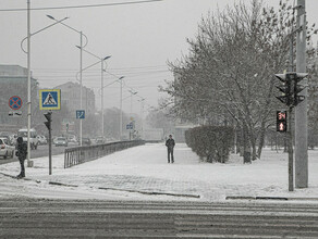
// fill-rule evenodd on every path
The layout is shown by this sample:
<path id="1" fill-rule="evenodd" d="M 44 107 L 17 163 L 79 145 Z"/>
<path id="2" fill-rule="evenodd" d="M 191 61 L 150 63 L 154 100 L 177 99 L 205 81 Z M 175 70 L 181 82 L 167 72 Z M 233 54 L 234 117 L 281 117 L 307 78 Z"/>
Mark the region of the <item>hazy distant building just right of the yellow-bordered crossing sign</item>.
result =
<path id="1" fill-rule="evenodd" d="M 80 109 L 81 85 L 78 83 L 69 81 L 54 88 L 61 89 L 61 104 L 69 109 L 73 117 L 75 117 L 76 110 L 85 110 L 86 115 L 95 113 L 95 93 L 91 89 L 83 86 L 82 109 Z"/>

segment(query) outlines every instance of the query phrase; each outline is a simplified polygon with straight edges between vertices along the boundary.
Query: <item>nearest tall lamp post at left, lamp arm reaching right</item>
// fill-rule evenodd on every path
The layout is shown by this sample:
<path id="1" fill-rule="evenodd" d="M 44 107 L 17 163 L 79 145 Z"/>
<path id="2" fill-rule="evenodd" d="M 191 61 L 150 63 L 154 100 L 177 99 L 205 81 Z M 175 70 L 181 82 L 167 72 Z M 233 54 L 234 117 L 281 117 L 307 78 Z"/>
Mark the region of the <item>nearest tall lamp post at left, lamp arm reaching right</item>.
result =
<path id="1" fill-rule="evenodd" d="M 21 49 L 24 53 L 27 54 L 27 166 L 33 166 L 32 161 L 29 160 L 30 158 L 30 143 L 29 143 L 29 138 L 30 138 L 30 37 L 58 24 L 58 23 L 62 23 L 63 21 L 65 21 L 69 17 L 64 17 L 63 20 L 58 21 L 54 24 L 51 24 L 49 26 L 46 26 L 35 33 L 30 33 L 30 1 L 27 0 L 27 36 L 21 41 Z M 27 40 L 27 50 L 24 50 L 23 48 L 23 42 Z"/>

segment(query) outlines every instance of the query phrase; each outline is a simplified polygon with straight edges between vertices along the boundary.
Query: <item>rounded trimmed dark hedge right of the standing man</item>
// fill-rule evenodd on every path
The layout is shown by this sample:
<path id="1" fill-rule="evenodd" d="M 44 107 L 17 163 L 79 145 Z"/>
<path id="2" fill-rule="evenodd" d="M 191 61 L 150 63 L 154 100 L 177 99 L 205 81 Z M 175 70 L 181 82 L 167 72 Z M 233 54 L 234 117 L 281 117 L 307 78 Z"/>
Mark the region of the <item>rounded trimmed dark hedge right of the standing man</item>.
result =
<path id="1" fill-rule="evenodd" d="M 186 144 L 209 163 L 225 163 L 234 141 L 234 129 L 229 126 L 199 126 L 185 131 Z"/>

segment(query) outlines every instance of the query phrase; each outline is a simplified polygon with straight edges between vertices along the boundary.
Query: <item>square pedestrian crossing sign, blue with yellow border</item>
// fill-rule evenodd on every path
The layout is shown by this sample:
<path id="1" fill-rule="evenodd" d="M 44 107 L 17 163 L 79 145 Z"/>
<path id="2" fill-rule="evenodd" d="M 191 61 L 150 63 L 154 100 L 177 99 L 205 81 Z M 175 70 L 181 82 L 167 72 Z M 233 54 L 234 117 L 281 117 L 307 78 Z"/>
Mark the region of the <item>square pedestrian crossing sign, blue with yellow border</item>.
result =
<path id="1" fill-rule="evenodd" d="M 61 110 L 61 89 L 40 89 L 39 109 Z"/>

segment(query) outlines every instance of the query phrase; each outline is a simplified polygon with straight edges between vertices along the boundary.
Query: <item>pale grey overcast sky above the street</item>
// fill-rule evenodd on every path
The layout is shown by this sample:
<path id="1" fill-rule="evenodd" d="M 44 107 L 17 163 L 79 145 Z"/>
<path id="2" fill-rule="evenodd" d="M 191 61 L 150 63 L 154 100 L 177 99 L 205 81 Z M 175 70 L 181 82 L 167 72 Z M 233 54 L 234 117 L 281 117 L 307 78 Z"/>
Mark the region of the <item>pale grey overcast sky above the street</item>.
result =
<path id="1" fill-rule="evenodd" d="M 30 0 L 32 8 L 85 5 L 99 3 L 136 2 L 137 0 Z M 108 71 L 125 76 L 125 85 L 138 91 L 148 105 L 157 105 L 163 95 L 158 85 L 172 79 L 167 61 L 174 62 L 187 54 L 186 38 L 197 33 L 197 23 L 208 11 L 233 5 L 235 0 L 163 0 L 152 3 L 112 5 L 85 9 L 60 9 L 32 11 L 32 33 L 46 27 L 56 18 L 70 17 L 64 23 L 82 30 L 88 38 L 86 50 L 107 60 Z M 294 2 L 291 0 L 290 2 Z M 296 0 L 295 0 L 296 2 Z M 277 7 L 279 0 L 265 0 Z M 26 54 L 21 50 L 21 40 L 26 37 L 26 11 L 1 11 L 26 8 L 26 0 L 0 0 L 0 64 L 26 67 Z M 309 23 L 317 22 L 318 1 L 306 0 Z M 76 81 L 80 71 L 80 34 L 56 25 L 32 37 L 32 71 L 41 88 L 52 88 L 69 80 Z M 83 53 L 83 67 L 98 59 Z M 115 80 L 105 75 L 105 85 Z M 100 108 L 100 65 L 83 74 L 83 85 L 93 88 L 96 105 Z M 1 89 L 3 90 L 3 89 Z M 119 108 L 119 84 L 105 88 L 105 106 Z M 126 98 L 127 88 L 123 89 Z M 139 112 L 135 98 L 133 111 Z M 130 98 L 123 110 L 130 111 Z"/>

